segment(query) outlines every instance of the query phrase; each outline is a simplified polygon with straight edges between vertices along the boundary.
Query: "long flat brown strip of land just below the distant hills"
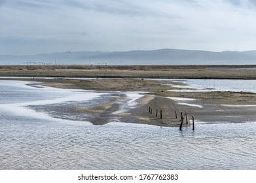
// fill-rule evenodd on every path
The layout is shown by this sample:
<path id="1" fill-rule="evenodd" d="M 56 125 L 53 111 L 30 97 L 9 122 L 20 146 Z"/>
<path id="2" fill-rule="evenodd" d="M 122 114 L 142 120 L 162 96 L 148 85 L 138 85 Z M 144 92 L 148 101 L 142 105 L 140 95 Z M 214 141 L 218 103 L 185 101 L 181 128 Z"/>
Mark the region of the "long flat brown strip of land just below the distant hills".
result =
<path id="1" fill-rule="evenodd" d="M 0 76 L 256 79 L 256 65 L 2 65 Z"/>

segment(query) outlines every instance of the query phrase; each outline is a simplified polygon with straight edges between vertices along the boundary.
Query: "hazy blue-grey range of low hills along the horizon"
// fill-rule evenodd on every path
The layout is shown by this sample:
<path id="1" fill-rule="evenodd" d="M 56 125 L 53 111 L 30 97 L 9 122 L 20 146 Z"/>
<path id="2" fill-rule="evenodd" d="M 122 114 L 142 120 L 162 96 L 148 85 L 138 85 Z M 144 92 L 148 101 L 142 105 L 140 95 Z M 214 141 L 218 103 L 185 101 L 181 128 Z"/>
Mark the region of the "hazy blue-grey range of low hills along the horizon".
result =
<path id="1" fill-rule="evenodd" d="M 63 52 L 0 56 L 1 65 L 255 65 L 256 51 L 161 49 L 128 52 Z"/>

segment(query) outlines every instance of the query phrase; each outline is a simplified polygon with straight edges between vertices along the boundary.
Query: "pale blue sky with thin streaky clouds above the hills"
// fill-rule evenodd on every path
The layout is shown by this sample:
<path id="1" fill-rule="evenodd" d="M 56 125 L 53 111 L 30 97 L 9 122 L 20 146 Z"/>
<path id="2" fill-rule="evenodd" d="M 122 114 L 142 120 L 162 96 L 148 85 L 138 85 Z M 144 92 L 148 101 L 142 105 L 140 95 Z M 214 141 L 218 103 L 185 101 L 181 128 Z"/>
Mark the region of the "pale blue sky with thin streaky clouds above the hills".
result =
<path id="1" fill-rule="evenodd" d="M 0 54 L 256 50 L 256 0 L 0 0 Z"/>

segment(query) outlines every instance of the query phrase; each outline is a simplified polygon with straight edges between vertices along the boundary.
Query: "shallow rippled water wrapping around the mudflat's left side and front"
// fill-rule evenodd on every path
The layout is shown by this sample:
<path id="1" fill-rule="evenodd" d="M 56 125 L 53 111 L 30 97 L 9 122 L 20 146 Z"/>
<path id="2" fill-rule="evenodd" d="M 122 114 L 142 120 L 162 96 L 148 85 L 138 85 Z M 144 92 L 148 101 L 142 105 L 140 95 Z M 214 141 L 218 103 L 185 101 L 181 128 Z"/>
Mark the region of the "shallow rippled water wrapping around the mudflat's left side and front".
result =
<path id="1" fill-rule="evenodd" d="M 195 131 L 120 122 L 92 125 L 27 106 L 89 105 L 107 100 L 109 93 L 25 84 L 0 81 L 0 169 L 256 169 L 255 122 L 196 124 Z M 129 107 L 141 97 L 126 94 Z"/>

